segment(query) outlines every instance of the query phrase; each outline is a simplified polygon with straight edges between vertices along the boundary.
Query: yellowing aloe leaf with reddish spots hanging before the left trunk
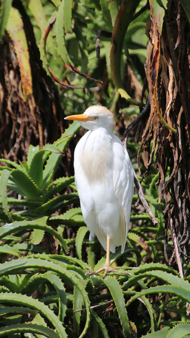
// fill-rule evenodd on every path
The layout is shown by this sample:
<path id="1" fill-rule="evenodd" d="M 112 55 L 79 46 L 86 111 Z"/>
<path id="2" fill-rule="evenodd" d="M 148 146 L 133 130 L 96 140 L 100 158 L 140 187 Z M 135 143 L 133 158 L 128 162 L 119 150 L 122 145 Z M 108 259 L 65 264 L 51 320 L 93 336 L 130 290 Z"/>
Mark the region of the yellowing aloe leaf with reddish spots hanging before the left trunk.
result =
<path id="1" fill-rule="evenodd" d="M 28 45 L 23 29 L 22 17 L 18 9 L 11 7 L 6 24 L 6 30 L 13 42 L 20 68 L 22 90 L 25 101 L 32 94 L 32 76 L 29 61 Z"/>

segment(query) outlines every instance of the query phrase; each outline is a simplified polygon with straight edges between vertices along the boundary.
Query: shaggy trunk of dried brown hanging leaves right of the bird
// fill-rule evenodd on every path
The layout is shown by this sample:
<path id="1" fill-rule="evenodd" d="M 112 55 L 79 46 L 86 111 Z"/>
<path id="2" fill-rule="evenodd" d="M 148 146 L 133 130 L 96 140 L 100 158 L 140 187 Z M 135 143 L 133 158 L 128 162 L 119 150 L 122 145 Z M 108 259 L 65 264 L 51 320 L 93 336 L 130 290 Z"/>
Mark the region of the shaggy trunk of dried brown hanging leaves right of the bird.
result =
<path id="1" fill-rule="evenodd" d="M 152 10 L 151 19 L 145 65 L 150 115 L 142 125 L 138 166 L 144 148 L 145 177 L 156 153 L 159 203 L 166 201 L 165 258 L 179 266 L 179 254 L 183 263 L 190 256 L 190 25 L 179 1 L 168 1 L 162 34 Z M 176 242 L 173 254 L 167 247 L 169 228 Z"/>

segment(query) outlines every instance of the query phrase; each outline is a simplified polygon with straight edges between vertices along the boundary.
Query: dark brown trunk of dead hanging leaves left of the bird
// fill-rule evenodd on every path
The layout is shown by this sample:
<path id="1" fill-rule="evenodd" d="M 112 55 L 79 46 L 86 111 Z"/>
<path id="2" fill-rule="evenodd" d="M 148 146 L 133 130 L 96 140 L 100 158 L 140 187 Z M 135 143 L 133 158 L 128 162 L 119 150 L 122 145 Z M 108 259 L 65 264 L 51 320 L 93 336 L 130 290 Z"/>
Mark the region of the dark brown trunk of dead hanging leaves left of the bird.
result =
<path id="1" fill-rule="evenodd" d="M 33 93 L 26 101 L 21 78 L 22 59 L 17 55 L 16 41 L 10 38 L 10 22 L 0 46 L 0 150 L 1 156 L 18 162 L 26 160 L 30 144 L 42 147 L 57 140 L 64 132 L 64 116 L 57 87 L 42 67 L 33 27 L 24 7 L 18 0 L 13 1 L 13 6 L 22 17 L 21 32 L 29 51 Z"/>

